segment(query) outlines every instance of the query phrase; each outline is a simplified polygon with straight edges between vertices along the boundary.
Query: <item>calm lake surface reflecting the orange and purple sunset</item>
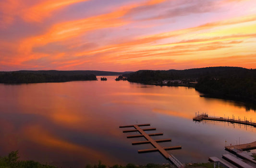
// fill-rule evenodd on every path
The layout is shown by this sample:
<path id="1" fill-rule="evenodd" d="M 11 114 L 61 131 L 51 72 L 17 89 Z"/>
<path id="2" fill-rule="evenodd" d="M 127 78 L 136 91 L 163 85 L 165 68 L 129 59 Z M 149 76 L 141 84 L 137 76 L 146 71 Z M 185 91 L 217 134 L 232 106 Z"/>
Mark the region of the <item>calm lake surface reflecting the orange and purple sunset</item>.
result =
<path id="1" fill-rule="evenodd" d="M 19 150 L 21 159 L 62 167 L 86 163 L 126 165 L 167 163 L 158 152 L 138 154 L 149 144 L 132 145 L 120 125 L 151 123 L 172 142 L 169 151 L 181 162 L 207 162 L 225 154 L 228 144 L 256 141 L 256 129 L 228 123 L 195 123 L 195 112 L 256 121 L 232 101 L 200 97 L 193 88 L 160 87 L 127 81 L 85 81 L 46 84 L 0 84 L 0 156 Z"/>

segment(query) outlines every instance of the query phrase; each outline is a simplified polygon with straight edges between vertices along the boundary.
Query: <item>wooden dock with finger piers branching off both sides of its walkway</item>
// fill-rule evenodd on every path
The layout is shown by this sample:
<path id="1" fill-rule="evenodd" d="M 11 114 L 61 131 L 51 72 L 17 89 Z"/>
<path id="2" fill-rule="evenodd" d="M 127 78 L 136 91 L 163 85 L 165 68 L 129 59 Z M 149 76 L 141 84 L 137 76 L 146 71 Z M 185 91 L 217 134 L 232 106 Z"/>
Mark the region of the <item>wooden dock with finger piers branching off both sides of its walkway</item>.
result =
<path id="1" fill-rule="evenodd" d="M 162 156 L 164 156 L 166 159 L 171 161 L 177 168 L 184 168 L 183 164 L 177 158 L 175 158 L 173 155 L 166 152 L 166 150 L 181 149 L 182 146 L 161 147 L 158 143 L 168 142 L 168 141 L 171 141 L 171 139 L 153 140 L 150 136 L 163 135 L 163 133 L 147 134 L 145 131 L 156 130 L 156 128 L 142 129 L 142 128 L 140 128 L 141 126 L 150 126 L 150 124 L 126 125 L 126 126 L 120 126 L 119 128 L 134 127 L 135 129 L 124 130 L 123 132 L 139 132 L 140 134 L 139 135 L 128 135 L 127 138 L 144 137 L 146 139 L 146 141 L 133 142 L 132 143 L 133 145 L 135 145 L 135 144 L 152 144 L 155 147 L 153 149 L 138 150 L 138 153 L 157 152 L 158 151 L 162 154 Z"/>

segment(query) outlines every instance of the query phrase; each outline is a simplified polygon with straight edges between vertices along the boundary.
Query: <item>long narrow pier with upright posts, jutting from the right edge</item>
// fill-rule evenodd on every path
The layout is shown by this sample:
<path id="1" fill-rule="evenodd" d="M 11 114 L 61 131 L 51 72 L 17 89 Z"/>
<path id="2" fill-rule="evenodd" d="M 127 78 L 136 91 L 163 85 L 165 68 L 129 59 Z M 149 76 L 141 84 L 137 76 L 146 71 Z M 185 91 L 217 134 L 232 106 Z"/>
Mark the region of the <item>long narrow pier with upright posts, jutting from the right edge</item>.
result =
<path id="1" fill-rule="evenodd" d="M 244 120 L 241 120 L 241 118 L 235 119 L 234 116 L 232 116 L 232 118 L 215 117 L 215 116 L 208 116 L 208 114 L 206 113 L 202 113 L 202 114 L 196 114 L 193 120 L 198 122 L 201 122 L 202 120 L 221 121 L 221 122 L 230 122 L 230 123 L 244 124 L 244 125 L 256 127 L 256 122 L 253 122 L 252 120 L 249 121 L 246 118 L 244 118 Z"/>

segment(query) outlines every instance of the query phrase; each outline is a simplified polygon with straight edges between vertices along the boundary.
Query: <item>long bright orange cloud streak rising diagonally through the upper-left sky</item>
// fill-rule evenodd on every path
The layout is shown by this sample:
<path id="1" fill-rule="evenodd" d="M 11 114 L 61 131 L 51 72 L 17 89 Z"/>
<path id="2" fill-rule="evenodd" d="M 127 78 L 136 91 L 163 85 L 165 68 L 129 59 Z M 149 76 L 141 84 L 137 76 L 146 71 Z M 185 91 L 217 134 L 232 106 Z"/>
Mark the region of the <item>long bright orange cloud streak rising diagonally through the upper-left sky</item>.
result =
<path id="1" fill-rule="evenodd" d="M 130 23 L 125 21 L 122 16 L 131 12 L 132 9 L 139 6 L 148 6 L 161 3 L 165 0 L 148 0 L 146 3 L 132 4 L 130 6 L 122 7 L 117 11 L 102 14 L 98 16 L 89 17 L 77 21 L 70 21 L 53 25 L 45 34 L 40 36 L 34 36 L 22 40 L 19 50 L 22 53 L 28 55 L 31 53 L 32 48 L 37 46 L 43 46 L 48 43 L 67 40 L 77 36 L 86 34 L 88 31 L 98 30 L 109 27 L 117 27 Z M 47 1 L 48 2 L 48 1 Z M 37 57 L 38 58 L 38 57 Z M 21 61 L 30 60 L 33 57 L 30 55 Z"/>

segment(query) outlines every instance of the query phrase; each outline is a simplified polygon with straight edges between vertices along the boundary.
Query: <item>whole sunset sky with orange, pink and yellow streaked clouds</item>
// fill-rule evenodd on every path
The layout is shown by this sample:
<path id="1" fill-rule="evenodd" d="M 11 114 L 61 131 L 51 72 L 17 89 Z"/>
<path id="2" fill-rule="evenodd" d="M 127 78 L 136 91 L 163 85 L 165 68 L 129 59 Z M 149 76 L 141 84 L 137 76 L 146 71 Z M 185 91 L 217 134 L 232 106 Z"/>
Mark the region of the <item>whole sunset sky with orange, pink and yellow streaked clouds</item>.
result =
<path id="1" fill-rule="evenodd" d="M 256 68 L 256 0 L 0 0 L 0 71 Z"/>

